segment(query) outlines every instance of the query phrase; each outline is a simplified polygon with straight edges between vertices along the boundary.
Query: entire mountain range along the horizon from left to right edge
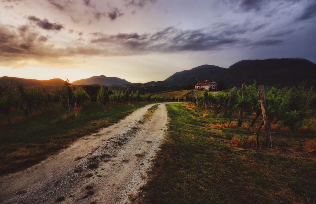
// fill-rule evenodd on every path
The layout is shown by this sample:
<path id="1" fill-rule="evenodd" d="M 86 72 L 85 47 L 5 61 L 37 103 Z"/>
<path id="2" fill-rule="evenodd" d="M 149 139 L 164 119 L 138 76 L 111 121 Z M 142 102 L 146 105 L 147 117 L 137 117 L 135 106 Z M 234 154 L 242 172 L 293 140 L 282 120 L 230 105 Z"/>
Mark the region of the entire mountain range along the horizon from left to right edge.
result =
<path id="1" fill-rule="evenodd" d="M 4 86 L 12 79 L 21 81 L 24 86 L 55 86 L 63 85 L 62 79 L 36 80 L 16 77 L 0 77 L 0 86 Z M 191 70 L 174 73 L 164 81 L 148 83 L 130 83 L 118 77 L 94 76 L 87 79 L 74 81 L 73 85 L 112 85 L 116 89 L 126 88 L 126 85 L 135 89 L 142 87 L 144 90 L 167 90 L 176 87 L 191 87 L 201 80 L 215 80 L 227 87 L 240 86 L 241 83 L 251 84 L 254 81 L 258 85 L 297 86 L 307 82 L 307 86 L 316 87 L 316 64 L 306 59 L 264 59 L 241 60 L 229 68 L 215 65 L 201 65 Z M 114 85 L 115 84 L 115 85 Z M 154 88 L 153 86 L 156 86 Z M 149 88 L 150 87 L 150 88 Z"/>

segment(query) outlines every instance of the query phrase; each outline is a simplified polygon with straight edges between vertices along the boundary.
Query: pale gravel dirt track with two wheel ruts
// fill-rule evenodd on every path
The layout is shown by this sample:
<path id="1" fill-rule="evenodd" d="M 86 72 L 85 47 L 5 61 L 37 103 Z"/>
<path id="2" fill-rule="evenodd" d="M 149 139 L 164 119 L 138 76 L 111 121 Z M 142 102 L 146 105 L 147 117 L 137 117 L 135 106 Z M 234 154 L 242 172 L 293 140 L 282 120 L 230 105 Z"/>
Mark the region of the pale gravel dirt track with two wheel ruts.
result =
<path id="1" fill-rule="evenodd" d="M 165 134 L 164 104 L 151 119 L 138 122 L 151 106 L 27 170 L 0 177 L 0 203 L 125 203 L 146 183 Z"/>

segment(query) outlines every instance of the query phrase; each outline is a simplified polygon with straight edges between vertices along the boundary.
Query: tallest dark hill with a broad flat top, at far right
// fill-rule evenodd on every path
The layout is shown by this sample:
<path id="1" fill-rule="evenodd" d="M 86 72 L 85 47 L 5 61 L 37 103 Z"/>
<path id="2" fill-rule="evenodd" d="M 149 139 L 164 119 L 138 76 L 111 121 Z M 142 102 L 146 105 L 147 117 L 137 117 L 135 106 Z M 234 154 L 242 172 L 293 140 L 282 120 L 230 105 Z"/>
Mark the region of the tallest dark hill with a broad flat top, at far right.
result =
<path id="1" fill-rule="evenodd" d="M 241 83 L 264 85 L 297 86 L 307 81 L 316 85 L 316 65 L 306 59 L 242 60 L 231 65 L 219 75 L 228 86 Z"/>

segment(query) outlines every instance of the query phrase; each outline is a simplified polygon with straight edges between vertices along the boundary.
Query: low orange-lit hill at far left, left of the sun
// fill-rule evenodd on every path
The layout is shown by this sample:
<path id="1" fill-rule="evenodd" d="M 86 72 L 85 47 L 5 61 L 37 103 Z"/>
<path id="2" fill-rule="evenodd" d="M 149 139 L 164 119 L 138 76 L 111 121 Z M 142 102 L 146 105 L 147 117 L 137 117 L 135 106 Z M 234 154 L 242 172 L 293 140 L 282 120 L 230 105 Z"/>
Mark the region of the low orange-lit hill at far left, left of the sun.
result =
<path id="1" fill-rule="evenodd" d="M 64 85 L 64 81 L 59 78 L 49 79 L 49 80 L 37 80 L 37 79 L 25 79 L 18 77 L 0 77 L 0 86 L 5 86 L 10 81 L 20 81 L 25 87 L 62 87 Z M 13 83 L 15 85 L 15 83 Z"/>

